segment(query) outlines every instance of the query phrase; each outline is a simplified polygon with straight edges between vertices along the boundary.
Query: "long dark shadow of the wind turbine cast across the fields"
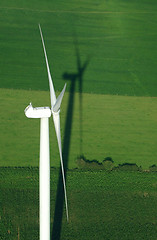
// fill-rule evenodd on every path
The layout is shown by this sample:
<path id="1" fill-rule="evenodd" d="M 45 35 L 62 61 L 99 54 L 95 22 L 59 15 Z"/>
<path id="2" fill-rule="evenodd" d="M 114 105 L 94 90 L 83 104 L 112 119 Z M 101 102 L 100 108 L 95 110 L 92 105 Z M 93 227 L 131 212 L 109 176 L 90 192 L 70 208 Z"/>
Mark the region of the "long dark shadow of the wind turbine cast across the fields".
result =
<path id="1" fill-rule="evenodd" d="M 75 51 L 76 51 L 77 72 L 76 73 L 65 72 L 63 74 L 64 80 L 70 80 L 69 98 L 68 98 L 66 121 L 65 121 L 65 128 L 64 128 L 64 140 L 63 140 L 63 161 L 64 161 L 65 179 L 66 179 L 68 160 L 69 160 L 69 150 L 70 150 L 70 142 L 71 142 L 71 131 L 72 131 L 72 122 L 73 122 L 76 81 L 78 81 L 78 83 L 79 83 L 80 152 L 82 152 L 83 74 L 89 63 L 89 60 L 87 59 L 86 62 L 83 64 L 83 66 L 81 66 L 81 60 L 80 60 L 80 54 L 79 54 L 77 41 L 75 41 L 74 44 L 75 44 Z M 54 223 L 53 223 L 51 239 L 55 239 L 55 240 L 60 239 L 62 218 L 63 218 L 63 207 L 64 207 L 64 188 L 63 188 L 62 172 L 61 172 L 61 166 L 60 166 L 58 186 L 57 186 L 57 195 L 56 195 L 55 213 L 54 213 Z"/>

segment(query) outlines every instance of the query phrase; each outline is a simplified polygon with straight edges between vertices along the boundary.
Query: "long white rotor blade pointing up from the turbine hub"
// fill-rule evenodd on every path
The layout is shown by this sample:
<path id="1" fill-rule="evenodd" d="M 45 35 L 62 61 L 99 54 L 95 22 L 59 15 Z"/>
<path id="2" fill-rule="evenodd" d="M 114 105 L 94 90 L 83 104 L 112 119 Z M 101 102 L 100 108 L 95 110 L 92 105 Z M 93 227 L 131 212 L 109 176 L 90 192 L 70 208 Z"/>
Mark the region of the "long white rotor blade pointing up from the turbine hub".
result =
<path id="1" fill-rule="evenodd" d="M 50 68 L 49 68 L 48 59 L 47 59 L 47 55 L 46 55 L 46 48 L 45 48 L 44 39 L 43 39 L 43 35 L 42 35 L 40 24 L 39 24 L 39 30 L 40 30 L 41 40 L 42 40 L 44 54 L 45 54 L 47 73 L 48 73 L 48 79 L 49 79 L 49 86 L 50 86 L 51 108 L 52 108 L 53 105 L 56 102 L 56 95 L 55 95 L 54 86 L 53 86 L 53 82 L 52 82 L 52 78 L 51 78 Z"/>

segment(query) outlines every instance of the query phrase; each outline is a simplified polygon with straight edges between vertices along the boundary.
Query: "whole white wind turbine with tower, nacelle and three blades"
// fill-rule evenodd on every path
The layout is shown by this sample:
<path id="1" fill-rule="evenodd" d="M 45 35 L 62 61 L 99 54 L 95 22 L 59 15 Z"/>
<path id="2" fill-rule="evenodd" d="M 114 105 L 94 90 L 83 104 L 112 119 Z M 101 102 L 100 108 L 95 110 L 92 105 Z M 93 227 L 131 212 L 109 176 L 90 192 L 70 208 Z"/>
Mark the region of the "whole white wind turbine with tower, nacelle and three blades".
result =
<path id="1" fill-rule="evenodd" d="M 60 105 L 65 92 L 66 84 L 56 99 L 53 82 L 51 78 L 51 73 L 49 69 L 48 59 L 46 55 L 46 49 L 44 44 L 44 39 L 39 25 L 39 30 L 41 34 L 41 40 L 44 49 L 44 55 L 46 60 L 49 86 L 50 86 L 50 100 L 51 109 L 49 107 L 38 107 L 33 108 L 30 103 L 25 109 L 25 115 L 28 118 L 40 118 L 40 163 L 39 163 L 39 177 L 40 177 L 40 240 L 50 240 L 50 151 L 49 151 L 49 118 L 51 114 L 53 115 L 54 126 L 56 130 L 56 136 L 59 147 L 63 186 L 64 186 L 64 196 L 65 196 L 65 206 L 66 206 L 66 216 L 67 221 L 68 216 L 68 204 L 67 204 L 67 194 L 65 185 L 65 174 L 63 167 L 62 158 L 62 147 L 61 147 L 61 133 L 60 133 Z"/>

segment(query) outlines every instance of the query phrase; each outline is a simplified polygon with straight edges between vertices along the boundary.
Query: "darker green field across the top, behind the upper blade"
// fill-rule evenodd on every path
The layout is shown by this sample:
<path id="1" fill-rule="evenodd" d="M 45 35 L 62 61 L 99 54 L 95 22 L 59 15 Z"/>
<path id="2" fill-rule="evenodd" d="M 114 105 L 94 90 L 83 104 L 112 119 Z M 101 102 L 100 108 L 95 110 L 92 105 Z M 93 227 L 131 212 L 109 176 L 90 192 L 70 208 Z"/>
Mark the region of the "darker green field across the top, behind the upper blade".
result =
<path id="1" fill-rule="evenodd" d="M 1 87 L 48 89 L 40 22 L 58 90 L 78 71 L 77 39 L 84 92 L 157 96 L 156 11 L 155 0 L 1 1 Z"/>

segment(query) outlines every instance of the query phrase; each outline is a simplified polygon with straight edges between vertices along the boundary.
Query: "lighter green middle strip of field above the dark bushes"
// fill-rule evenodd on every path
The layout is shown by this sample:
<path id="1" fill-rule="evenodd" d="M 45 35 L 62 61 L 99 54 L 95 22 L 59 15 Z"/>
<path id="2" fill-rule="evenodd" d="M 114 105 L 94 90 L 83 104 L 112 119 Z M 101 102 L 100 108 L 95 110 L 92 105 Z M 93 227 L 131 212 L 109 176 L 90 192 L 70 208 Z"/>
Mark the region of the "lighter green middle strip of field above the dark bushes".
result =
<path id="1" fill-rule="evenodd" d="M 61 109 L 62 142 L 68 97 L 69 93 L 66 93 Z M 29 101 L 32 101 L 33 106 L 49 106 L 49 92 L 1 89 L 0 101 L 0 166 L 38 166 L 40 121 L 26 118 L 24 109 Z M 76 93 L 69 168 L 77 167 L 76 158 L 80 154 L 100 162 L 105 157 L 112 157 L 115 164 L 136 163 L 144 169 L 156 163 L 157 98 L 84 93 L 82 101 L 81 136 L 79 95 Z M 59 167 L 52 118 L 50 146 L 51 166 Z"/>

